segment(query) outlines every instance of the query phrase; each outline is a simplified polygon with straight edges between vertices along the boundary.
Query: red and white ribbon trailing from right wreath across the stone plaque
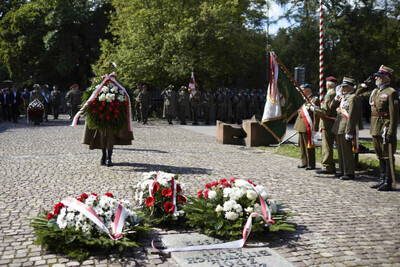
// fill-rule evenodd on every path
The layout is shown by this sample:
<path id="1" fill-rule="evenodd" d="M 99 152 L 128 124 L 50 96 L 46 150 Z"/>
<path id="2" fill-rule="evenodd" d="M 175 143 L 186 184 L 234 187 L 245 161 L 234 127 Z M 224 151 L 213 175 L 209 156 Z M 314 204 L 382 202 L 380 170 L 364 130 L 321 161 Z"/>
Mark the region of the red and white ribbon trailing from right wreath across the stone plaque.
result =
<path id="1" fill-rule="evenodd" d="M 250 183 L 250 182 L 249 182 Z M 242 231 L 242 239 L 236 240 L 236 241 L 231 241 L 231 242 L 225 242 L 221 244 L 214 244 L 214 245 L 202 245 L 202 246 L 190 246 L 190 247 L 182 247 L 182 248 L 168 248 L 168 249 L 163 249 L 159 250 L 156 248 L 154 245 L 154 240 L 151 242 L 151 246 L 154 249 L 157 249 L 163 253 L 169 253 L 169 252 L 183 252 L 183 251 L 197 251 L 197 250 L 212 250 L 212 249 L 227 249 L 227 248 L 242 248 L 244 244 L 246 243 L 247 238 L 250 235 L 251 232 L 251 227 L 253 225 L 253 217 L 260 217 L 264 222 L 265 226 L 269 226 L 274 224 L 275 222 L 271 219 L 271 211 L 265 203 L 264 199 L 261 197 L 260 194 L 256 191 L 255 187 L 250 183 L 251 188 L 257 193 L 259 199 L 260 199 L 260 205 L 261 205 L 261 211 L 262 214 L 259 214 L 257 212 L 252 212 L 249 217 L 247 218 L 246 224 L 243 227 Z"/>

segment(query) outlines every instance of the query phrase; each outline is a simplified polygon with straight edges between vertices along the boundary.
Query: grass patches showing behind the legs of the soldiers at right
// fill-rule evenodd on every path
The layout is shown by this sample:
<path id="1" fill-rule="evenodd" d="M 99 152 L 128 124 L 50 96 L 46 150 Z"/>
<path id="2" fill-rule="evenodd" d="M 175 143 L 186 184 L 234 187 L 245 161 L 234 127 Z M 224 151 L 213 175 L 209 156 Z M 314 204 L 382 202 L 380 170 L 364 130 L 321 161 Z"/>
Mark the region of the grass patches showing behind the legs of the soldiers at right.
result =
<path id="1" fill-rule="evenodd" d="M 373 144 L 371 141 L 360 141 L 360 144 L 368 149 L 373 149 Z M 274 154 L 283 155 L 292 158 L 300 159 L 300 147 L 297 145 L 283 145 L 280 147 L 261 147 L 260 149 L 269 151 Z M 397 144 L 397 150 L 400 150 L 400 145 Z M 315 159 L 317 162 L 321 162 L 321 147 L 315 148 Z M 338 166 L 338 154 L 337 150 L 333 151 L 333 160 Z M 379 161 L 373 159 L 359 158 L 356 170 L 359 174 L 377 176 L 379 175 Z M 400 170 L 397 168 L 395 170 L 396 177 L 400 176 Z"/>

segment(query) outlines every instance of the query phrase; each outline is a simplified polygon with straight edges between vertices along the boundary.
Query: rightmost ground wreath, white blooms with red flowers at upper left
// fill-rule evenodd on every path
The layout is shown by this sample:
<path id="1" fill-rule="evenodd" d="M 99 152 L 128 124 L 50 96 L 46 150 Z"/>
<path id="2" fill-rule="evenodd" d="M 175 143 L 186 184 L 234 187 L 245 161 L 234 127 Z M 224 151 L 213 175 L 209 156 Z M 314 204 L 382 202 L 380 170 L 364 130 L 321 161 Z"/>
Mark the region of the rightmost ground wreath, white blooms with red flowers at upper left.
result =
<path id="1" fill-rule="evenodd" d="M 268 228 L 259 217 L 253 222 L 251 233 L 289 230 L 294 226 L 285 223 L 286 212 L 279 211 L 280 205 L 270 199 L 264 186 L 250 180 L 237 178 L 221 179 L 207 183 L 197 192 L 197 198 L 189 198 L 184 206 L 187 223 L 205 234 L 225 240 L 236 240 L 243 234 L 243 227 L 252 212 L 262 214 L 260 196 L 268 205 L 274 223 Z"/>

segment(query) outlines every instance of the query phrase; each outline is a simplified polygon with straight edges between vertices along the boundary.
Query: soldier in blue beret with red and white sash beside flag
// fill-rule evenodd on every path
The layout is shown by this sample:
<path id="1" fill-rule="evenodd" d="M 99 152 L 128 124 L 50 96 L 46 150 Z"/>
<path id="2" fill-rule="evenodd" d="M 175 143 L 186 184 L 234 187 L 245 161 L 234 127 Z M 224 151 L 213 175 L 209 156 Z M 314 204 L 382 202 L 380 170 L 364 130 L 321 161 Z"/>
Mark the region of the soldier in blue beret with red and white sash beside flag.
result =
<path id="1" fill-rule="evenodd" d="M 307 97 L 311 97 L 312 88 L 310 84 L 300 86 Z M 299 146 L 301 154 L 301 165 L 298 168 L 306 170 L 315 169 L 315 145 L 313 142 L 314 131 L 318 130 L 318 117 L 312 111 L 312 107 L 318 104 L 318 98 L 310 99 L 311 103 L 304 104 L 298 112 L 294 129 L 299 134 Z"/>

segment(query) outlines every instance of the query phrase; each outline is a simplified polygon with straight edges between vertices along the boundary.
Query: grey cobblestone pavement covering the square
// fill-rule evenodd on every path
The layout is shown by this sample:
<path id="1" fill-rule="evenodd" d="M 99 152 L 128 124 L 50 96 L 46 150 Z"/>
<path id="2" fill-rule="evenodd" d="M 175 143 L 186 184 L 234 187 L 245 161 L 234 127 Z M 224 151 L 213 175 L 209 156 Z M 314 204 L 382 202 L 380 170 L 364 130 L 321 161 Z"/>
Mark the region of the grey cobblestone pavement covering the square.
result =
<path id="1" fill-rule="evenodd" d="M 115 149 L 111 168 L 100 151 L 81 144 L 83 125 L 69 127 L 65 116 L 41 126 L 0 124 L 0 265 L 75 266 L 76 261 L 33 244 L 28 217 L 61 198 L 82 192 L 113 192 L 133 200 L 130 185 L 143 172 L 171 169 L 189 192 L 206 181 L 250 178 L 268 188 L 297 216 L 296 232 L 270 233 L 266 245 L 295 266 L 399 266 L 400 191 L 378 192 L 374 181 L 340 181 L 299 170 L 299 160 L 255 148 L 220 145 L 215 138 L 150 121 L 134 124 L 132 146 Z M 173 234 L 174 232 L 170 232 Z M 175 266 L 171 258 L 143 247 L 83 265 Z"/>

